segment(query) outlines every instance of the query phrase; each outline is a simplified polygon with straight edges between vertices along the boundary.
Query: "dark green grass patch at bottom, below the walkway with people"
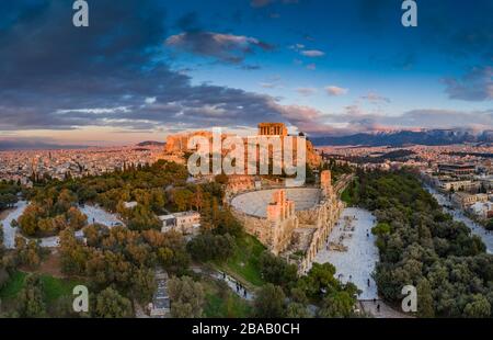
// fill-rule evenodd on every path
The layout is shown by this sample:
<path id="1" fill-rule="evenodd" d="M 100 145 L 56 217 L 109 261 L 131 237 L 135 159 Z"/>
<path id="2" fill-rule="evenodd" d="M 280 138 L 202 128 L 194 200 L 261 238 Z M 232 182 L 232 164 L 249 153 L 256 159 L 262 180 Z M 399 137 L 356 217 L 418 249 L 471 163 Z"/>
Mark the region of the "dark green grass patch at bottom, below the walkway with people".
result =
<path id="1" fill-rule="evenodd" d="M 228 286 L 213 280 L 202 282 L 206 293 L 204 316 L 207 318 L 248 318 L 251 305 L 232 293 Z"/>

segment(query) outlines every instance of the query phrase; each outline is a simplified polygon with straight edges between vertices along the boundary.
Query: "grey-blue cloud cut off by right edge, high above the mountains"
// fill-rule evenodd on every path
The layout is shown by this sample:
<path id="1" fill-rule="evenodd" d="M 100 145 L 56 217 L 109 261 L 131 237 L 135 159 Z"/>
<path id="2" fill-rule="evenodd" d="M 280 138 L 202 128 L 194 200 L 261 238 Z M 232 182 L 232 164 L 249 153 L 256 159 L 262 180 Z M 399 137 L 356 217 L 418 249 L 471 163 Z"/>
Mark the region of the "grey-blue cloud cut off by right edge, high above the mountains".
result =
<path id="1" fill-rule="evenodd" d="M 490 101 L 493 99 L 493 67 L 474 67 L 461 78 L 447 78 L 445 91 L 450 99 Z"/>

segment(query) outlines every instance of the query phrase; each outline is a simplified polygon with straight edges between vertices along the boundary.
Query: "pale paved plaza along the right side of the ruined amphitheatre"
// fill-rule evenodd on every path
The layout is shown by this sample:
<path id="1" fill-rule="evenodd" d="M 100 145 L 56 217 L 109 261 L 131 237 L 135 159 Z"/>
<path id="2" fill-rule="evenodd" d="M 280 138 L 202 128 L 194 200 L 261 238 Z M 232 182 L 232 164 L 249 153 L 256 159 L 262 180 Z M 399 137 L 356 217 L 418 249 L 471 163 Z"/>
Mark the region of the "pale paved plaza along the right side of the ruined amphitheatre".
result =
<path id="1" fill-rule="evenodd" d="M 377 285 L 371 277 L 375 263 L 379 260 L 375 236 L 371 234 L 375 224 L 376 219 L 368 211 L 345 208 L 337 225 L 332 229 L 329 243 L 341 243 L 347 247 L 347 251 L 328 250 L 326 243 L 314 259 L 317 263 L 334 264 L 337 279 L 356 284 L 363 291 L 359 299 L 378 298 Z"/>

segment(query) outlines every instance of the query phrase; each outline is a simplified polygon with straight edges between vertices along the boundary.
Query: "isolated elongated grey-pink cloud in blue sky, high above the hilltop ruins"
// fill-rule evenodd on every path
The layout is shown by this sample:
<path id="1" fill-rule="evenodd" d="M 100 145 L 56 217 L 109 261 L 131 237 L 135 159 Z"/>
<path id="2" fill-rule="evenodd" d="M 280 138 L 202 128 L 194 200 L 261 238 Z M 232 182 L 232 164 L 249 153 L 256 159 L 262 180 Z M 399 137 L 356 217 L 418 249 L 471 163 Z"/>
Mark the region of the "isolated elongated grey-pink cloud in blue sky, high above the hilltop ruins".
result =
<path id="1" fill-rule="evenodd" d="M 272 50 L 273 45 L 244 35 L 215 32 L 183 32 L 167 38 L 165 45 L 191 54 L 238 64 L 255 49 Z"/>

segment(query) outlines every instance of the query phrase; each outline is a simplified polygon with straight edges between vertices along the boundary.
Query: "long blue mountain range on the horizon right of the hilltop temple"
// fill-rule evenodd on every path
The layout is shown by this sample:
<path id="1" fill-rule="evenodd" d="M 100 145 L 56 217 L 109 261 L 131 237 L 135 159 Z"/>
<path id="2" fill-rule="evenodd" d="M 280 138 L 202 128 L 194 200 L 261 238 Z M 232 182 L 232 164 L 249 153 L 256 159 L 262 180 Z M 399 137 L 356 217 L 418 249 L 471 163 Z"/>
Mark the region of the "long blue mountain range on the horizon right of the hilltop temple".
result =
<path id="1" fill-rule="evenodd" d="M 316 146 L 393 146 L 403 145 L 451 145 L 462 143 L 493 143 L 493 131 L 475 133 L 471 129 L 400 131 L 391 133 L 355 134 L 311 138 Z"/>

